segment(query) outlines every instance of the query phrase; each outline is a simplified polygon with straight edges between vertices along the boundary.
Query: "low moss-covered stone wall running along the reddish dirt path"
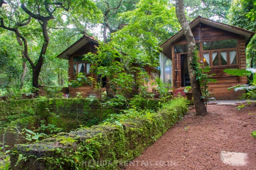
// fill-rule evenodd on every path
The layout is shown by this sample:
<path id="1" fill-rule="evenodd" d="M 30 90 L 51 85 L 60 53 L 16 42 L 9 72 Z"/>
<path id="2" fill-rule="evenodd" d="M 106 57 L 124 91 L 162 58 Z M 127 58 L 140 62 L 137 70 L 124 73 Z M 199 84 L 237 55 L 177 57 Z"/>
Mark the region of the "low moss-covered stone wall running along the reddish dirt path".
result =
<path id="1" fill-rule="evenodd" d="M 15 145 L 11 166 L 18 169 L 120 169 L 154 143 L 187 111 L 184 99 L 173 100 L 152 119 L 126 119 L 122 125 L 95 125 L 26 145 Z M 102 164 L 106 161 L 107 164 Z M 116 161 L 119 161 L 115 164 Z M 89 163 L 96 162 L 90 166 Z M 111 163 L 110 163 L 111 162 Z"/>

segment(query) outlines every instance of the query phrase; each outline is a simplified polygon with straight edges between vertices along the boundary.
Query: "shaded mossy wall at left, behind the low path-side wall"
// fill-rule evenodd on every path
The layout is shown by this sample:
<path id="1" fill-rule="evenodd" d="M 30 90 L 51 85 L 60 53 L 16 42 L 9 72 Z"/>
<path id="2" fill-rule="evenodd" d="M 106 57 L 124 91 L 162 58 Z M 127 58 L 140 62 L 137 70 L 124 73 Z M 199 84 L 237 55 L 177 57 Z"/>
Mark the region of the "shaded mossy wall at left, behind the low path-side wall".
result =
<path id="1" fill-rule="evenodd" d="M 101 112 L 100 103 L 87 99 L 22 99 L 0 101 L 0 140 L 8 127 L 27 128 L 32 130 L 40 127 L 41 122 L 63 128 L 63 132 L 70 132 L 79 125 L 91 126 L 103 121 L 114 109 L 104 108 Z M 49 134 L 49 132 L 44 132 Z M 22 143 L 17 134 L 6 133 L 6 145 Z"/>

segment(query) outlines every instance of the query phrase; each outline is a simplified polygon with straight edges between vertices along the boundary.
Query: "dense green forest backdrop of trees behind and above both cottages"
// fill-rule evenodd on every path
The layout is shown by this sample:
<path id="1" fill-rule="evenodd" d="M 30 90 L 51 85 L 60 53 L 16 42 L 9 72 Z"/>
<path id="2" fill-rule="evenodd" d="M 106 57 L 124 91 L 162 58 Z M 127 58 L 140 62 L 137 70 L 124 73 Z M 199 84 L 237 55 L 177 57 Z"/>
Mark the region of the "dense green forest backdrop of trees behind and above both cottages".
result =
<path id="1" fill-rule="evenodd" d="M 254 0 L 184 5 L 189 20 L 201 15 L 255 31 Z M 67 61 L 55 57 L 82 34 L 96 32 L 126 58 L 158 66 L 159 45 L 180 29 L 175 3 L 168 0 L 0 0 L 0 21 L 2 88 L 31 87 L 32 79 L 67 85 Z M 256 66 L 255 43 L 253 38 L 247 47 L 250 67 Z"/>

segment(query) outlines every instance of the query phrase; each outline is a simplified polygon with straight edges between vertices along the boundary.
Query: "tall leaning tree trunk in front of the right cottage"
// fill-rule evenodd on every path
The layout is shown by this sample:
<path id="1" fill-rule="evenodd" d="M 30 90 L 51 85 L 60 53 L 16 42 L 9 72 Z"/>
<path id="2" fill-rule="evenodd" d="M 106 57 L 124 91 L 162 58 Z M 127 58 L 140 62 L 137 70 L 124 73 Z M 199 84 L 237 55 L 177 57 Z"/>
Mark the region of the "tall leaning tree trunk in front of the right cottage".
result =
<path id="1" fill-rule="evenodd" d="M 185 12 L 184 12 L 184 3 L 183 0 L 176 0 L 176 16 L 180 22 L 180 25 L 184 31 L 184 35 L 187 40 L 188 45 L 188 53 L 187 53 L 187 63 L 188 63 L 188 70 L 189 70 L 189 79 L 191 82 L 191 89 L 193 94 L 193 99 L 195 103 L 195 110 L 198 115 L 207 114 L 206 106 L 204 105 L 204 100 L 201 99 L 202 92 L 200 88 L 200 83 L 196 80 L 195 74 L 193 74 L 194 68 L 191 67 L 192 58 L 195 57 L 195 39 L 192 34 L 192 31 L 189 27 L 189 23 L 186 20 Z"/>

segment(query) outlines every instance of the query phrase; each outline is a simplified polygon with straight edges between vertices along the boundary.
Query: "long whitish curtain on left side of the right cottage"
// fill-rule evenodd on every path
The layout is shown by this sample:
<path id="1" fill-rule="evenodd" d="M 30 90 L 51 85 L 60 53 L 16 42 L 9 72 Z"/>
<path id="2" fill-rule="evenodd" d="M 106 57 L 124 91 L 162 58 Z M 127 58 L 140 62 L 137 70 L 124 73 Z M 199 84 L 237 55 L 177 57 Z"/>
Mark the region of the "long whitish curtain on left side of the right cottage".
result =
<path id="1" fill-rule="evenodd" d="M 160 78 L 164 83 L 172 84 L 173 83 L 173 64 L 172 60 L 170 60 L 165 54 L 162 52 L 159 55 L 160 61 Z"/>

